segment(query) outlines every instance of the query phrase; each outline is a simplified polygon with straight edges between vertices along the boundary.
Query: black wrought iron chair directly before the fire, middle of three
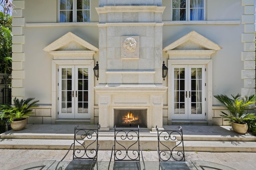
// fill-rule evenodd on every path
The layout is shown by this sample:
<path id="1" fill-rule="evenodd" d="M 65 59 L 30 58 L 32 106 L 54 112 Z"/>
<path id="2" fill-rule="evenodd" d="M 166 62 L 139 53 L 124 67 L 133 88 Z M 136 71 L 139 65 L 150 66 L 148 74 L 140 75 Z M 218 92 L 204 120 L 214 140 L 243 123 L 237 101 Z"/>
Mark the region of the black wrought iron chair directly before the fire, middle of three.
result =
<path id="1" fill-rule="evenodd" d="M 110 168 L 112 154 L 114 152 L 114 170 L 141 170 L 140 156 L 142 157 L 144 165 L 143 170 L 145 170 L 145 163 L 140 145 L 139 125 L 136 130 L 123 128 L 118 130 L 116 125 L 114 129 L 114 145 L 112 147 L 108 169 Z"/>

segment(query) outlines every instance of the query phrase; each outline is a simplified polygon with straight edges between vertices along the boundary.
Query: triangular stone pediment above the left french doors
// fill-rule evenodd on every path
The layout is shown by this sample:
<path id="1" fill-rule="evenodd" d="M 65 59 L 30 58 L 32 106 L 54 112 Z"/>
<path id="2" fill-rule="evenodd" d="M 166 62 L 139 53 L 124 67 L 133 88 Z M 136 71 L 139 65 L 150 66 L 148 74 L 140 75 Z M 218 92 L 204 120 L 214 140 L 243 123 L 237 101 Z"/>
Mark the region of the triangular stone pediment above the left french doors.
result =
<path id="1" fill-rule="evenodd" d="M 43 49 L 44 51 L 99 51 L 92 44 L 84 41 L 74 33 L 68 32 Z"/>

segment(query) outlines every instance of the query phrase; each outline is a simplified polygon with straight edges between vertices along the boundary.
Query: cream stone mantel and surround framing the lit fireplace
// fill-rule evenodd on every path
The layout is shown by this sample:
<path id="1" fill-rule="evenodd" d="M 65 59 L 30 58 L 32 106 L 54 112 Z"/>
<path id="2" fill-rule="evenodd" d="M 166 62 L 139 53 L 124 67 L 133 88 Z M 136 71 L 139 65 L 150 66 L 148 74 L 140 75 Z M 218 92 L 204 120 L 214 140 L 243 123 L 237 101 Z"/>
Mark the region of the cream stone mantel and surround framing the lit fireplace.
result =
<path id="1" fill-rule="evenodd" d="M 101 131 L 114 127 L 114 109 L 147 109 L 147 128 L 162 128 L 163 94 L 167 87 L 162 84 L 99 84 L 94 87 L 98 94 L 99 123 Z"/>

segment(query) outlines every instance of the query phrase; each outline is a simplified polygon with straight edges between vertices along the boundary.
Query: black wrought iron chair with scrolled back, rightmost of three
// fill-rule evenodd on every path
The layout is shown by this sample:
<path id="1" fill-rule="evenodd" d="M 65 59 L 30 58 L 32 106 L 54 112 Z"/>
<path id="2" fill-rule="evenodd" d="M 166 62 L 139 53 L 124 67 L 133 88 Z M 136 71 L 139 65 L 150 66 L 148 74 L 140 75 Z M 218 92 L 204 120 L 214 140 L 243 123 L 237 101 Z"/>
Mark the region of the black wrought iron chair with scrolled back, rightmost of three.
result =
<path id="1" fill-rule="evenodd" d="M 178 130 L 174 131 L 160 131 L 158 126 L 156 126 L 156 130 L 158 136 L 157 153 L 162 170 L 177 169 L 175 166 L 177 166 L 178 169 L 182 166 L 182 170 L 189 170 L 190 168 L 185 163 L 181 164 L 181 162 L 175 162 L 185 162 L 182 127 L 180 126 Z"/>

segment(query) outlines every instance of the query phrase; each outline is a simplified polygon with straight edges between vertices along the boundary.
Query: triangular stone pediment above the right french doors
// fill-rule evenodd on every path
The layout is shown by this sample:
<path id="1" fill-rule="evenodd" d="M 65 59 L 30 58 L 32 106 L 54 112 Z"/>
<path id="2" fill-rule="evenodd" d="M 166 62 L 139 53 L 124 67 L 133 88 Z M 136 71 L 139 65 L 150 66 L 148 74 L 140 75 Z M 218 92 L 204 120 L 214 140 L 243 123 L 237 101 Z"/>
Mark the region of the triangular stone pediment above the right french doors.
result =
<path id="1" fill-rule="evenodd" d="M 196 31 L 191 31 L 180 39 L 174 41 L 163 51 L 169 50 L 220 50 L 222 47 L 200 35 Z"/>

